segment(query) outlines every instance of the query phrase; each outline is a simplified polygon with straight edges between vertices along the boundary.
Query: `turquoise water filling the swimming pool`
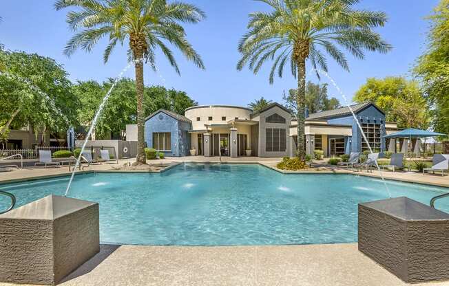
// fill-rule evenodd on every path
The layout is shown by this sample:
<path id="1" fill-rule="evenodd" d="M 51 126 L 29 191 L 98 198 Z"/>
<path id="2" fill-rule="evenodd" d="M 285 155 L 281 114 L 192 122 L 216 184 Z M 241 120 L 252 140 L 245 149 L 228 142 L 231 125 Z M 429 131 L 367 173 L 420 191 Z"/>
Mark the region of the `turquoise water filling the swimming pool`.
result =
<path id="1" fill-rule="evenodd" d="M 63 195 L 68 177 L 1 185 L 18 206 Z M 423 203 L 447 188 L 388 181 Z M 162 174 L 77 175 L 70 197 L 100 203 L 103 243 L 285 245 L 357 241 L 357 203 L 388 197 L 379 179 L 284 175 L 248 164 L 185 164 Z M 7 199 L 0 199 L 6 206 Z M 449 211 L 449 199 L 437 208 Z"/>

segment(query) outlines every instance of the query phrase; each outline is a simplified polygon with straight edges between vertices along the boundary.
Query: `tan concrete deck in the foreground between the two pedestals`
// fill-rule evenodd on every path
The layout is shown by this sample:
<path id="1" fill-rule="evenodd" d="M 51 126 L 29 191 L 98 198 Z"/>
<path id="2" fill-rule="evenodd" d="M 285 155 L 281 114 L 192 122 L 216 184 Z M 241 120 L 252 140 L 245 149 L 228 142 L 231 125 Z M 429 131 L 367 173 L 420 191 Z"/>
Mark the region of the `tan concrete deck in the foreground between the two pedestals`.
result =
<path id="1" fill-rule="evenodd" d="M 1 286 L 12 284 L 0 283 Z M 409 285 L 357 250 L 333 245 L 171 247 L 101 245 L 59 285 Z M 449 285 L 449 282 L 413 285 Z"/>

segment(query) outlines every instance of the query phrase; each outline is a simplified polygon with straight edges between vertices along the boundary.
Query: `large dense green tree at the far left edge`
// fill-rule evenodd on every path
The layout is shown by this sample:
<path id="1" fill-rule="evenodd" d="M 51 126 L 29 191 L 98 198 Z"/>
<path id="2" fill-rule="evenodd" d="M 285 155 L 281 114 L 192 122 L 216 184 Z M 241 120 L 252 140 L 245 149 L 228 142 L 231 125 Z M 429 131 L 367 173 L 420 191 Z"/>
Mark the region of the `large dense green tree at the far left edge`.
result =
<path id="1" fill-rule="evenodd" d="M 10 126 L 48 130 L 76 124 L 78 101 L 67 72 L 52 58 L 0 50 L 0 133 Z"/>

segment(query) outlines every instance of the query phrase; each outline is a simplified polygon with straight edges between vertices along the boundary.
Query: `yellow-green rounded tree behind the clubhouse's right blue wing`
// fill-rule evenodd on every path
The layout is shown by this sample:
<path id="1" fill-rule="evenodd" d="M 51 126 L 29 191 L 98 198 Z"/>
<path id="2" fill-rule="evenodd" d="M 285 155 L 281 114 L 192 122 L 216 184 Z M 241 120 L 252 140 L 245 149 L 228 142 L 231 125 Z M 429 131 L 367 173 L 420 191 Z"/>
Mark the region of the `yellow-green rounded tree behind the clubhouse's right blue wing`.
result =
<path id="1" fill-rule="evenodd" d="M 414 80 L 401 76 L 368 78 L 355 93 L 355 102 L 374 102 L 386 113 L 386 120 L 399 128 L 427 129 L 429 113 L 426 99 Z"/>

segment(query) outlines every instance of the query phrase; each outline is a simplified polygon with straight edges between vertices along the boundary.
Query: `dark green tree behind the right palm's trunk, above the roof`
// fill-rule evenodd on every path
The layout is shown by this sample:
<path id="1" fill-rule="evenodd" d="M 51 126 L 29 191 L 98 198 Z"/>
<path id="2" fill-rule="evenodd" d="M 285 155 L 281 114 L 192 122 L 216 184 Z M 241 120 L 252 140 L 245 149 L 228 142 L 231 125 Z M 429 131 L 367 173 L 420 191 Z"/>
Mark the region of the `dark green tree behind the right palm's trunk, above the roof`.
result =
<path id="1" fill-rule="evenodd" d="M 315 84 L 311 81 L 306 84 L 306 107 L 309 109 L 309 113 L 317 113 L 324 110 L 331 110 L 340 107 L 340 102 L 337 98 L 329 99 L 327 96 L 327 84 Z M 290 109 L 292 112 L 297 112 L 297 102 L 296 102 L 297 89 L 290 89 L 289 94 L 282 96 L 284 100 L 284 105 Z"/>

